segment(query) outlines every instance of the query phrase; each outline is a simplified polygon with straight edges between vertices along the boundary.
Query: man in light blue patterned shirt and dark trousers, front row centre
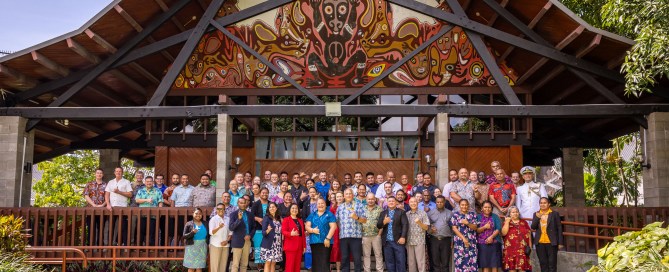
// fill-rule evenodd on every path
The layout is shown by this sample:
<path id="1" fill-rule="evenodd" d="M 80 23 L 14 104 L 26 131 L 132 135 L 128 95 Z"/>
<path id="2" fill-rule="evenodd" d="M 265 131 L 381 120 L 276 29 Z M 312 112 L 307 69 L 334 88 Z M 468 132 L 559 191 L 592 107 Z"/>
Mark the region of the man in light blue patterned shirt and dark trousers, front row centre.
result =
<path id="1" fill-rule="evenodd" d="M 351 271 L 349 253 L 353 255 L 353 267 L 356 272 L 362 271 L 362 224 L 367 222 L 364 206 L 353 201 L 353 189 L 344 191 L 344 203 L 337 208 L 339 229 L 339 250 L 341 251 L 342 271 Z"/>

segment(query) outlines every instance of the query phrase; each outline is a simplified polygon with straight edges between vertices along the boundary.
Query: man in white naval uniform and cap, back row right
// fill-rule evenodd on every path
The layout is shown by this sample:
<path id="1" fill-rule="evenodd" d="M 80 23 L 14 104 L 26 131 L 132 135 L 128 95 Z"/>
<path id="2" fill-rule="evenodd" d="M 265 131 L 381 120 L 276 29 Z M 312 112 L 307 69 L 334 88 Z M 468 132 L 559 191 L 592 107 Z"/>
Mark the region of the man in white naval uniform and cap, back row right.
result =
<path id="1" fill-rule="evenodd" d="M 532 215 L 539 210 L 539 200 L 548 197 L 546 187 L 535 181 L 534 168 L 525 166 L 520 169 L 525 184 L 516 187 L 516 206 L 520 217 L 532 221 Z"/>

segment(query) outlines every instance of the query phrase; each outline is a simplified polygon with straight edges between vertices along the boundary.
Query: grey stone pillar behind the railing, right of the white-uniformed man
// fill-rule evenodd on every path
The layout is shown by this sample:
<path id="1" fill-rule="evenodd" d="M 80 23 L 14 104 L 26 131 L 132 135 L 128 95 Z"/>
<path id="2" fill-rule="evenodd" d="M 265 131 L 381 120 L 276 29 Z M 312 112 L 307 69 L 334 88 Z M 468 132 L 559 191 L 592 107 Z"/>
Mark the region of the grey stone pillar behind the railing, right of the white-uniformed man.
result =
<path id="1" fill-rule="evenodd" d="M 565 207 L 585 207 L 583 148 L 562 148 L 562 180 Z"/>

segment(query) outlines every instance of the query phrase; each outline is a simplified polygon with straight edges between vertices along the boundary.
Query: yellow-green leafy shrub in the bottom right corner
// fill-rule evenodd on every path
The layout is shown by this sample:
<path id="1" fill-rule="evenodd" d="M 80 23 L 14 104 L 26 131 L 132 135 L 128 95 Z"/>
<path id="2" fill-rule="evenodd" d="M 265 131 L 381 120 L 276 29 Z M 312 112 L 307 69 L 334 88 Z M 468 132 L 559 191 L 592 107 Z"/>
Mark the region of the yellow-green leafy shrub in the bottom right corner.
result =
<path id="1" fill-rule="evenodd" d="M 597 251 L 599 264 L 588 272 L 669 271 L 669 227 L 655 222 L 617 236 Z"/>

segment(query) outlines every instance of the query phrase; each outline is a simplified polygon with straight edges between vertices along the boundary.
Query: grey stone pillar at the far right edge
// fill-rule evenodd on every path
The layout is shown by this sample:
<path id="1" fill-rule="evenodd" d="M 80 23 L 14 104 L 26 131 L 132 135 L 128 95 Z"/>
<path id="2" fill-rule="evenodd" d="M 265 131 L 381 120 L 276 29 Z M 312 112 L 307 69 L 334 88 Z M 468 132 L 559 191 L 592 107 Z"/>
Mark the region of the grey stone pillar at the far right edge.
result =
<path id="1" fill-rule="evenodd" d="M 669 207 L 669 112 L 651 113 L 644 134 L 644 206 Z"/>

